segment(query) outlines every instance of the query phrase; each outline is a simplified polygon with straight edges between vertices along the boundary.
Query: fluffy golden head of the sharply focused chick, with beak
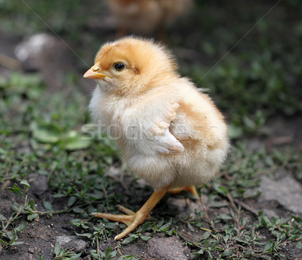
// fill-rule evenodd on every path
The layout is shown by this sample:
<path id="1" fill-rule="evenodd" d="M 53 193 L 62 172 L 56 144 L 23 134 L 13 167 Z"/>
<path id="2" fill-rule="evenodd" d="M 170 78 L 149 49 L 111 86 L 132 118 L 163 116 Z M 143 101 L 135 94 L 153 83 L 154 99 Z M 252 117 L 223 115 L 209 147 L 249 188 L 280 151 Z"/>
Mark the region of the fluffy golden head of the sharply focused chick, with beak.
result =
<path id="1" fill-rule="evenodd" d="M 171 53 L 163 46 L 126 37 L 104 44 L 84 77 L 96 79 L 108 92 L 127 95 L 143 91 L 161 76 L 176 74 L 176 68 Z"/>

